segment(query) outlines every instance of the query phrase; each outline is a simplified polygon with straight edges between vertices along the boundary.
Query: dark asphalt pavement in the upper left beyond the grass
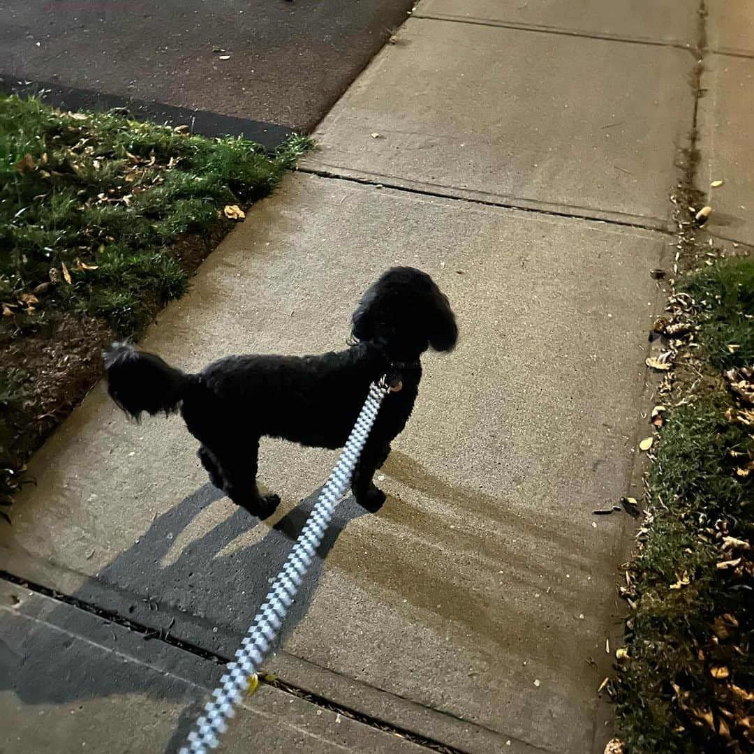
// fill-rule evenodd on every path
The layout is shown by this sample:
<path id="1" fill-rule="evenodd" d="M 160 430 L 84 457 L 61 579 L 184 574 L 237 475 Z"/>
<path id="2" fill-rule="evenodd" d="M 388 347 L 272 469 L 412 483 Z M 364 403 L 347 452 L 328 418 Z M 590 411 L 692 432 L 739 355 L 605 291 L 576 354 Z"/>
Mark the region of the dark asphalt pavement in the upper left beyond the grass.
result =
<path id="1" fill-rule="evenodd" d="M 0 5 L 0 73 L 311 130 L 412 0 Z"/>

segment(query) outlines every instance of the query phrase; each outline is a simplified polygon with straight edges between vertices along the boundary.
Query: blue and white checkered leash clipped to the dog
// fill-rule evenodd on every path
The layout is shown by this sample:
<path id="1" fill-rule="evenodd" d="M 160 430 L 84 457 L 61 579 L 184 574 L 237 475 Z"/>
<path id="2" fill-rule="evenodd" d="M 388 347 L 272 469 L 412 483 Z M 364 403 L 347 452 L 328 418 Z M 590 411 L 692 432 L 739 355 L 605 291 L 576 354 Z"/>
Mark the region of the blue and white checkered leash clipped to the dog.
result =
<path id="1" fill-rule="evenodd" d="M 227 672 L 220 679 L 221 685 L 212 692 L 213 698 L 204 707 L 204 715 L 198 719 L 194 729 L 189 733 L 189 743 L 180 750 L 180 754 L 206 754 L 208 748 L 215 749 L 219 745 L 219 735 L 225 733 L 228 727 L 226 721 L 234 715 L 233 705 L 238 703 L 249 687 L 250 679 L 254 678 L 262 667 L 288 608 L 311 566 L 314 553 L 329 526 L 336 505 L 351 485 L 351 477 L 366 438 L 369 437 L 377 412 L 389 391 L 385 379 L 369 387 L 369 395 L 333 473 L 323 486 L 320 497 L 314 504 L 314 509 L 296 544 L 293 545 L 283 569 L 277 574 L 265 602 L 259 608 L 244 641 L 241 642 L 241 647 L 236 651 L 236 659 L 226 667 Z"/>

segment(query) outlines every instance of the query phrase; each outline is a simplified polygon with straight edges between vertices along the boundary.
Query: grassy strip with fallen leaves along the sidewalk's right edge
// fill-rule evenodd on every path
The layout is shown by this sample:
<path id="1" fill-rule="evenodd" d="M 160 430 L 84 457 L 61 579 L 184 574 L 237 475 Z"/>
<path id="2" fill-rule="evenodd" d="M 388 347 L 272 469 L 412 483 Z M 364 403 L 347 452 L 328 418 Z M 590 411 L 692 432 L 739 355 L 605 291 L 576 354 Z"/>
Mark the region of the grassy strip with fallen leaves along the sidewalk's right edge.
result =
<path id="1" fill-rule="evenodd" d="M 676 290 L 690 296 L 702 356 L 693 391 L 681 381 L 664 414 L 621 590 L 631 610 L 619 730 L 627 752 L 751 751 L 754 406 L 721 372 L 754 364 L 754 259 L 721 260 Z"/>

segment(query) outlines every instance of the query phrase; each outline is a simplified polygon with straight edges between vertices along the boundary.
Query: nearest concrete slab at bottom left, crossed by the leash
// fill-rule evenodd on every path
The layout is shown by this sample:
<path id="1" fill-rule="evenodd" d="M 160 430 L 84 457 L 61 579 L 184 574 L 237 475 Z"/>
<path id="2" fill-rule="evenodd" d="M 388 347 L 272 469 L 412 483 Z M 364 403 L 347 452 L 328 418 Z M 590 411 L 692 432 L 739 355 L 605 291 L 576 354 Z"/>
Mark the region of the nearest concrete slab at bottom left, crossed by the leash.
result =
<path id="1" fill-rule="evenodd" d="M 222 667 L 0 581 L 0 752 L 176 752 Z M 262 685 L 222 750 L 426 751 Z"/>

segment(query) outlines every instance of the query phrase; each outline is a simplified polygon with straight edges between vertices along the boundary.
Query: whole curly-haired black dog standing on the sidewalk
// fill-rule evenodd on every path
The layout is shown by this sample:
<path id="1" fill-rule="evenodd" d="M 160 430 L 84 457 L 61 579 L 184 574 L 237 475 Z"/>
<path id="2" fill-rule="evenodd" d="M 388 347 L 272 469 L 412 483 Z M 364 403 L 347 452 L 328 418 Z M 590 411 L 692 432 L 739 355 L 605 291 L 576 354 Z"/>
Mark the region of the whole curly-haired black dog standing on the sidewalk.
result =
<path id="1" fill-rule="evenodd" d="M 406 426 L 429 347 L 451 351 L 458 338 L 448 299 L 424 272 L 394 267 L 364 294 L 353 317 L 351 348 L 322 356 L 228 356 L 186 374 L 160 357 L 114 343 L 106 351 L 108 391 L 138 420 L 180 409 L 201 446 L 213 485 L 260 518 L 280 498 L 256 489 L 262 435 L 302 445 L 345 445 L 369 385 L 388 375 L 394 390 L 379 411 L 351 480 L 357 501 L 377 510 L 385 494 L 372 483 L 390 443 Z"/>

